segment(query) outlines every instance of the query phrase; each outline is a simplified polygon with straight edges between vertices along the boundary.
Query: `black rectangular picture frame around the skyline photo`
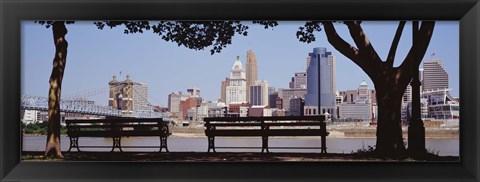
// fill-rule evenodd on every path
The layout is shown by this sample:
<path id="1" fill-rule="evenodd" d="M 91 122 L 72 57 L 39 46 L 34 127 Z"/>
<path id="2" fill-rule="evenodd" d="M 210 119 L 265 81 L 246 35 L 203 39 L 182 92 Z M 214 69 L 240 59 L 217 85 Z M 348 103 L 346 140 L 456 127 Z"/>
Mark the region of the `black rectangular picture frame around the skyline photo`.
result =
<path id="1" fill-rule="evenodd" d="M 478 181 L 478 0 L 2 0 L 1 181 Z M 460 162 L 20 161 L 21 20 L 459 20 Z M 456 35 L 452 35 L 456 36 Z"/>

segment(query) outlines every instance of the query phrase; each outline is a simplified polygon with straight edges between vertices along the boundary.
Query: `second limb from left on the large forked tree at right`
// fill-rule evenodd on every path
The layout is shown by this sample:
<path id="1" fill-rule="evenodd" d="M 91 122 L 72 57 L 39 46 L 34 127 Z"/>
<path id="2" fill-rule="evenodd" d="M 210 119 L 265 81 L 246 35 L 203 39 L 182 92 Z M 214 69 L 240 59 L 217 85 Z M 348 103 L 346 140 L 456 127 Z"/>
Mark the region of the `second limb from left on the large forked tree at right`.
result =
<path id="1" fill-rule="evenodd" d="M 365 35 L 365 32 L 360 25 L 360 22 L 345 21 L 345 24 L 348 26 L 350 36 L 360 50 L 360 56 L 364 57 L 365 59 L 372 59 L 374 62 L 376 62 L 374 64 L 382 63 L 382 59 L 380 59 L 377 51 L 375 51 L 372 43 L 370 43 L 370 40 L 368 40 L 368 37 Z"/>

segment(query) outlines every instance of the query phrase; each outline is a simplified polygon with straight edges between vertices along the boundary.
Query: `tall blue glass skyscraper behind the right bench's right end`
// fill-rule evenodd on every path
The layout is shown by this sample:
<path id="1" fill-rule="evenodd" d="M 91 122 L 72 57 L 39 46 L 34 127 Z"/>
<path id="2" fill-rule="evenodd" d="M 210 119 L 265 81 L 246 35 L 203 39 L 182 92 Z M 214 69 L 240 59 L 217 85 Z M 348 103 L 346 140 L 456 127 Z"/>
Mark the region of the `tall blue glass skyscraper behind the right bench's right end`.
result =
<path id="1" fill-rule="evenodd" d="M 307 68 L 307 94 L 305 96 L 305 113 L 336 113 L 335 107 L 335 57 L 324 47 L 317 47 L 309 53 Z M 320 64 L 320 70 L 318 70 Z M 318 92 L 320 76 L 320 93 Z M 320 95 L 320 109 L 318 96 Z M 320 112 L 319 112 L 320 111 Z M 307 114 L 309 115 L 309 114 Z"/>

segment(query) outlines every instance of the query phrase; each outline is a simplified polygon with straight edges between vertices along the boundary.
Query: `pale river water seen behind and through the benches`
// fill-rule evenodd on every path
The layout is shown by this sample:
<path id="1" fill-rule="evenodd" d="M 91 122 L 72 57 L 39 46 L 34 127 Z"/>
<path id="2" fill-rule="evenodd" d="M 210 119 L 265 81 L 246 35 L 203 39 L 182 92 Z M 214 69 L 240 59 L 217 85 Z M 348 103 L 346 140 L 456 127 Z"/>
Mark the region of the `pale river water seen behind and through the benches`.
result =
<path id="1" fill-rule="evenodd" d="M 61 137 L 62 151 L 69 148 L 69 138 Z M 349 154 L 358 149 L 375 145 L 375 138 L 327 138 L 328 153 Z M 24 151 L 44 151 L 46 137 L 24 136 Z M 158 137 L 130 137 L 122 138 L 122 146 L 159 146 Z M 216 138 L 217 147 L 261 147 L 260 138 Z M 110 138 L 80 138 L 80 146 L 111 146 Z M 426 139 L 425 148 L 440 156 L 459 156 L 459 139 Z M 270 147 L 319 147 L 320 138 L 291 137 L 270 138 Z M 169 137 L 168 149 L 170 152 L 206 152 L 208 142 L 206 137 Z M 110 151 L 108 148 L 81 148 L 82 151 Z M 124 148 L 124 151 L 158 151 L 158 148 Z M 76 150 L 73 150 L 76 151 Z M 260 152 L 261 149 L 216 149 L 217 152 Z M 270 152 L 320 152 L 319 149 L 270 149 Z"/>

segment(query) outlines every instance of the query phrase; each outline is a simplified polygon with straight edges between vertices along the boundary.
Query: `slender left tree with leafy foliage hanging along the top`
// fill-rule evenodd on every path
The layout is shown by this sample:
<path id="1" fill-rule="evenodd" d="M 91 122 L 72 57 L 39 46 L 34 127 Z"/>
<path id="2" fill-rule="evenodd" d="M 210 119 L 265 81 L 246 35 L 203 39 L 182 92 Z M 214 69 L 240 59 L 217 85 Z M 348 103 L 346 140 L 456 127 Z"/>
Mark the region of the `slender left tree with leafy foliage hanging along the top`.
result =
<path id="1" fill-rule="evenodd" d="M 60 146 L 60 98 L 63 74 L 67 63 L 68 42 L 66 24 L 73 21 L 38 21 L 46 28 L 52 27 L 55 56 L 50 75 L 50 88 L 48 92 L 48 131 L 45 147 L 45 156 L 63 157 Z M 263 25 L 265 28 L 274 27 L 274 21 L 253 21 L 254 24 Z M 232 43 L 235 34 L 247 36 L 248 26 L 240 21 L 160 21 L 153 24 L 149 21 L 98 21 L 94 22 L 98 29 L 105 26 L 110 28 L 124 26 L 125 34 L 143 33 L 153 30 L 165 41 L 175 42 L 178 46 L 185 46 L 193 50 L 203 50 L 213 46 L 211 54 L 219 53 L 222 48 Z M 152 24 L 152 25 L 151 25 Z"/>

